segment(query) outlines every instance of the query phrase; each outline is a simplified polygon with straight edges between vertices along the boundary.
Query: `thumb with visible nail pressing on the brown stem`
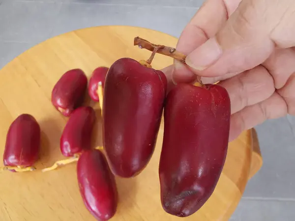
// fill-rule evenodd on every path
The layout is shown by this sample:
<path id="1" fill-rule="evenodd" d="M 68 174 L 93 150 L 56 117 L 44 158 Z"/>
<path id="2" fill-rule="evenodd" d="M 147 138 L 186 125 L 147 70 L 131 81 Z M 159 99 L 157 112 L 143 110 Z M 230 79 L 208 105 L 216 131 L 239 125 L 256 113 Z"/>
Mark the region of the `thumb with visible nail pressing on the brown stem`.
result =
<path id="1" fill-rule="evenodd" d="M 237 74 L 263 63 L 275 46 L 294 46 L 293 2 L 242 0 L 217 34 L 187 55 L 187 65 L 203 77 Z"/>

